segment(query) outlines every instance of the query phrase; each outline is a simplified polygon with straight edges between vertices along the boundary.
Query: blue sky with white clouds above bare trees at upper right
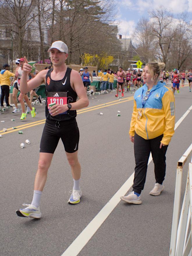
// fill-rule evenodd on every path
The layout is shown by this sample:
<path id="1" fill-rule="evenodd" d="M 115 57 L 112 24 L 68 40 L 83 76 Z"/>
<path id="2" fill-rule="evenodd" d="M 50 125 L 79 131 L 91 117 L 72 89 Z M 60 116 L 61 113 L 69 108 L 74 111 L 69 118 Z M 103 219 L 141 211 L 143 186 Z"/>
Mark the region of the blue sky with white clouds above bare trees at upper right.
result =
<path id="1" fill-rule="evenodd" d="M 164 6 L 167 10 L 177 18 L 177 14 L 186 12 L 188 20 L 192 25 L 192 0 L 115 0 L 118 1 L 117 21 L 119 23 L 119 33 L 122 38 L 131 38 L 137 31 L 135 27 L 139 19 L 144 16 L 149 18 L 147 10 L 156 9 L 159 6 Z"/>

